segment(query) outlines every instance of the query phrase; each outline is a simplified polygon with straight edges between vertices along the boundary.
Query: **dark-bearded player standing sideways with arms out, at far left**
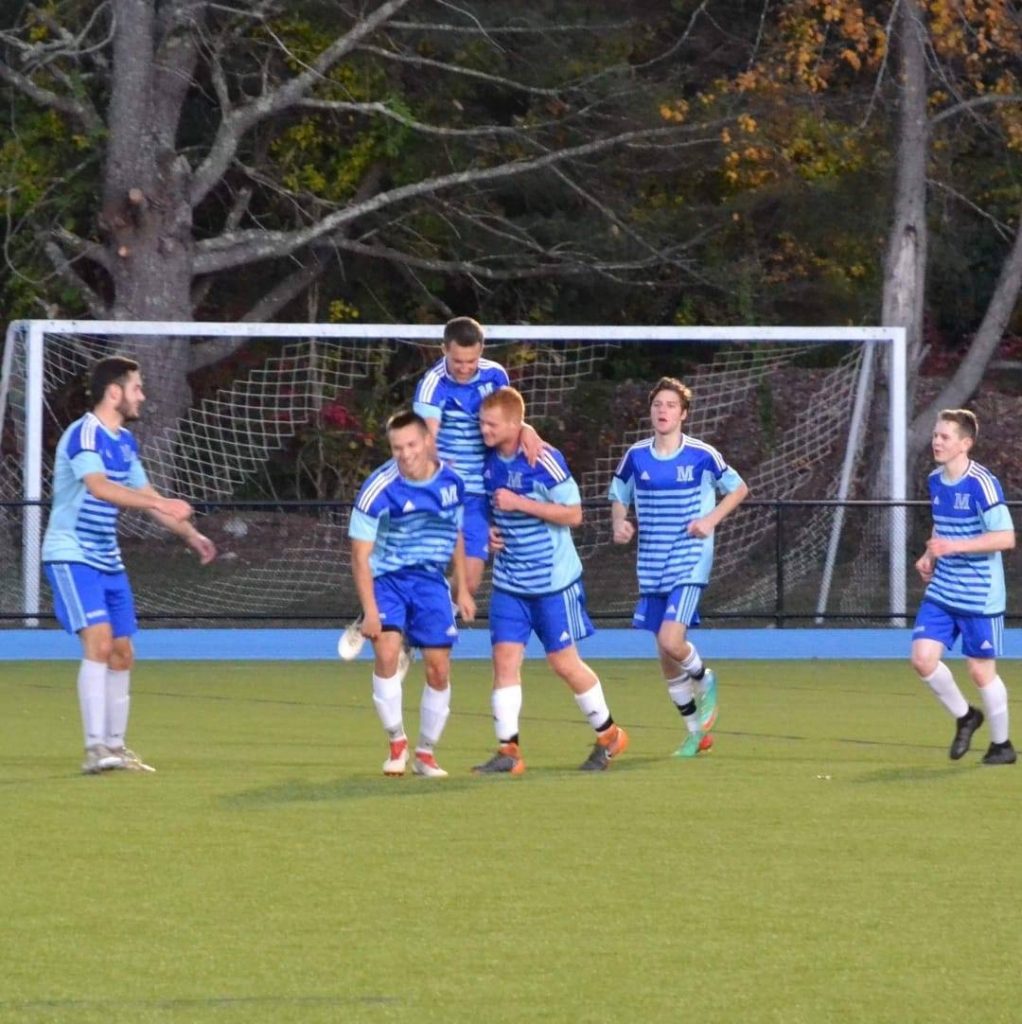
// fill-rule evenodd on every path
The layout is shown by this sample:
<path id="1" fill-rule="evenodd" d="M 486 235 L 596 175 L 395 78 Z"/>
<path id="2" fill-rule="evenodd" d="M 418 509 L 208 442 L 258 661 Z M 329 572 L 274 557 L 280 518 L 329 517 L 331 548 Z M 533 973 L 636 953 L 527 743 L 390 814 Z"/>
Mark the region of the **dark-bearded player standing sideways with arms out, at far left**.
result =
<path id="1" fill-rule="evenodd" d="M 131 637 L 138 629 L 131 585 L 117 543 L 120 510 L 142 509 L 180 537 L 203 565 L 216 548 L 189 521 L 187 502 L 164 498 L 148 482 L 126 423 L 145 400 L 138 364 L 113 355 L 92 368 L 94 407 L 63 432 L 53 468 L 53 504 L 43 563 L 57 622 L 82 642 L 78 701 L 85 733 L 82 771 L 152 771 L 125 745 L 130 705 Z"/>

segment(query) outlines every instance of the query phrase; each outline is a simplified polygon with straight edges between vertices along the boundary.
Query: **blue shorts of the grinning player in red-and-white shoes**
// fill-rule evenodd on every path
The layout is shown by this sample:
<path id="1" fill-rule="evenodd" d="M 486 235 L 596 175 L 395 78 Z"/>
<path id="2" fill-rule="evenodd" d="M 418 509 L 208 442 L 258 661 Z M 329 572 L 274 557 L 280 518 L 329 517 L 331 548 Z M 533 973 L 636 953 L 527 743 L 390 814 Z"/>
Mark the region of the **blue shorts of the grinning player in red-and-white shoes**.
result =
<path id="1" fill-rule="evenodd" d="M 453 647 L 458 642 L 451 587 L 439 569 L 406 568 L 373 581 L 380 622 L 404 634 L 413 647 Z"/>

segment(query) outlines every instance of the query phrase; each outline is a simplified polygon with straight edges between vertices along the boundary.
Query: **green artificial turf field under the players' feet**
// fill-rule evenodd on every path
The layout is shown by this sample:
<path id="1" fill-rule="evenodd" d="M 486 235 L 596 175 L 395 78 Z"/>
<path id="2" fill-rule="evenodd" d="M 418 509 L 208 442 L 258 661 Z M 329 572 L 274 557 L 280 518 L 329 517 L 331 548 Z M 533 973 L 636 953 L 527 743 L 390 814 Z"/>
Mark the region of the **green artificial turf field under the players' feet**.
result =
<path id="1" fill-rule="evenodd" d="M 653 664 L 595 667 L 608 772 L 529 662 L 528 770 L 473 776 L 462 663 L 432 780 L 380 773 L 365 665 L 140 664 L 158 772 L 85 777 L 75 666 L 0 664 L 0 1022 L 1022 1019 L 1022 765 L 981 767 L 985 728 L 949 762 L 904 664 L 718 663 L 681 761 Z"/>

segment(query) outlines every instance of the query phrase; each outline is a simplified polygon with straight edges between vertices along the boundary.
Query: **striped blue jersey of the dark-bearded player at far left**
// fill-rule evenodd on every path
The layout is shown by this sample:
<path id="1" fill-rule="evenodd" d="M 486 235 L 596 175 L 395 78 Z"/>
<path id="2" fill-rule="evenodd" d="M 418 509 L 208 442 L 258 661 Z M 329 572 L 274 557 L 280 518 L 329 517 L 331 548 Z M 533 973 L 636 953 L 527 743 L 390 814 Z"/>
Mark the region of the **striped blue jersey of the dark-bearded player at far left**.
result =
<path id="1" fill-rule="evenodd" d="M 102 473 L 125 487 L 144 487 L 148 482 L 130 431 L 108 430 L 92 413 L 68 427 L 56 445 L 43 561 L 84 562 L 102 572 L 122 572 L 117 543 L 121 510 L 89 494 L 82 482 L 89 473 Z"/>

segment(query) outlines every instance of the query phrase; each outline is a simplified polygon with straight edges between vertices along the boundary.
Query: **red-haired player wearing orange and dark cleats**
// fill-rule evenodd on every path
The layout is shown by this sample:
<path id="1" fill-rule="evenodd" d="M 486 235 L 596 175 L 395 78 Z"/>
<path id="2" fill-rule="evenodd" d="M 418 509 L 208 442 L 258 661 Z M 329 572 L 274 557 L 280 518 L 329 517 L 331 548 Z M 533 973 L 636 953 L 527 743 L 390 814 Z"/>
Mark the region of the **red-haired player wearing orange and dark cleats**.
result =
<path id="1" fill-rule="evenodd" d="M 482 399 L 479 426 L 491 452 L 482 478 L 493 508 L 494 593 L 489 638 L 494 647 L 494 723 L 499 748 L 476 772 L 525 770 L 519 748 L 521 662 L 536 633 L 547 663 L 574 694 L 596 732 L 584 771 L 601 771 L 628 749 L 628 734 L 614 723 L 596 673 L 579 656 L 578 640 L 591 636 L 582 562 L 571 527 L 582 522 L 579 486 L 556 449 L 545 445 L 535 466 L 519 435 L 525 403 L 512 387 Z"/>

